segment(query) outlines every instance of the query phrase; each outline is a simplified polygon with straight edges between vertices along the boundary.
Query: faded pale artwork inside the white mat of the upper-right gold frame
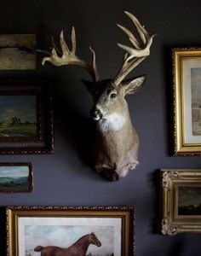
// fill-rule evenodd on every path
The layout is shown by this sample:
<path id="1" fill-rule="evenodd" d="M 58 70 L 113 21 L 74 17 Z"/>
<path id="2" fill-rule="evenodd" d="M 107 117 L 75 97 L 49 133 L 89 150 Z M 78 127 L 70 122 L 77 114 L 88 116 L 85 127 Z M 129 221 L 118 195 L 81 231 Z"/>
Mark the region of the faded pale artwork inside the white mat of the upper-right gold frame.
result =
<path id="1" fill-rule="evenodd" d="M 191 69 L 192 77 L 192 135 L 201 136 L 201 68 Z"/>

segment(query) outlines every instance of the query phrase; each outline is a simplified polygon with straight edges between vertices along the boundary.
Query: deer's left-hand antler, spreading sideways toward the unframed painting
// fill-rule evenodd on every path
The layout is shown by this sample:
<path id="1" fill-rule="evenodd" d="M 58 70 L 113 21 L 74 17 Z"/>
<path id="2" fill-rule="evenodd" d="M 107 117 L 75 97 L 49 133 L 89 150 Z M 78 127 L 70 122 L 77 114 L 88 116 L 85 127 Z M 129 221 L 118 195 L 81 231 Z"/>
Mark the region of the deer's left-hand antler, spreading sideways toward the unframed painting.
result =
<path id="1" fill-rule="evenodd" d="M 90 49 L 92 53 L 92 65 L 89 65 L 85 61 L 78 58 L 76 55 L 76 34 L 75 34 L 75 28 L 72 26 L 72 35 L 71 35 L 71 43 L 72 43 L 72 50 L 70 50 L 66 44 L 66 41 L 64 39 L 64 33 L 63 31 L 60 32 L 60 48 L 62 49 L 61 56 L 57 54 L 57 52 L 60 53 L 60 51 L 56 48 L 55 43 L 53 41 L 53 49 L 51 53 L 48 53 L 49 57 L 44 57 L 42 60 L 42 64 L 46 61 L 49 61 L 51 64 L 55 66 L 62 66 L 62 65 L 78 65 L 80 67 L 83 67 L 92 77 L 94 82 L 97 82 L 99 79 L 97 67 L 95 64 L 95 51 L 93 49 Z"/>

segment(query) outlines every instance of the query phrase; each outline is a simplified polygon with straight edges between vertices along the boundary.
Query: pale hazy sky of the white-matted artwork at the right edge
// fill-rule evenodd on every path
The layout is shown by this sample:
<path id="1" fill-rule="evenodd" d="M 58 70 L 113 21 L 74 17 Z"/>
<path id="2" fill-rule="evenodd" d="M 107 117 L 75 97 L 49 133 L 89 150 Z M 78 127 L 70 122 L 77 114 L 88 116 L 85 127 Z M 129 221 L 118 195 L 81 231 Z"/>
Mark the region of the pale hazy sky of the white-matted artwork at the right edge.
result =
<path id="1" fill-rule="evenodd" d="M 192 68 L 192 100 L 201 102 L 201 68 Z"/>

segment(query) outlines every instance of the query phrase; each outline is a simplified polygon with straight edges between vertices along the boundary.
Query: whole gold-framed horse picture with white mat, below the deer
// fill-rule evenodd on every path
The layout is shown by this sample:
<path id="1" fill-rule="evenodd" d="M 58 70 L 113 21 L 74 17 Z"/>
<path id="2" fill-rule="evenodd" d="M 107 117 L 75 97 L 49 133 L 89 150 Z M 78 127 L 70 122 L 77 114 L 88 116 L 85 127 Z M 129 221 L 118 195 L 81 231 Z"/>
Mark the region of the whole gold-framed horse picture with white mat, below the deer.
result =
<path id="1" fill-rule="evenodd" d="M 8 207 L 8 256 L 134 255 L 133 207 Z"/>

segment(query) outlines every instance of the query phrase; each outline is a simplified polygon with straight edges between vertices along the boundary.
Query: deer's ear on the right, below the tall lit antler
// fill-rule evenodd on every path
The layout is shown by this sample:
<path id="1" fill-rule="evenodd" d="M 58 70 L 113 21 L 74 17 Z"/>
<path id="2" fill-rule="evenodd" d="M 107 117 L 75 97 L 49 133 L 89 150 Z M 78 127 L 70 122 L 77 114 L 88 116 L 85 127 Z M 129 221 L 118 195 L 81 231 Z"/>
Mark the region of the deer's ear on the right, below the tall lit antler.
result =
<path id="1" fill-rule="evenodd" d="M 126 94 L 135 94 L 141 88 L 141 85 L 144 83 L 146 79 L 145 75 L 137 77 L 135 79 L 127 79 L 122 82 L 122 85 Z"/>

